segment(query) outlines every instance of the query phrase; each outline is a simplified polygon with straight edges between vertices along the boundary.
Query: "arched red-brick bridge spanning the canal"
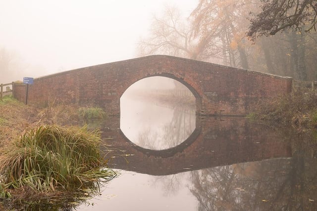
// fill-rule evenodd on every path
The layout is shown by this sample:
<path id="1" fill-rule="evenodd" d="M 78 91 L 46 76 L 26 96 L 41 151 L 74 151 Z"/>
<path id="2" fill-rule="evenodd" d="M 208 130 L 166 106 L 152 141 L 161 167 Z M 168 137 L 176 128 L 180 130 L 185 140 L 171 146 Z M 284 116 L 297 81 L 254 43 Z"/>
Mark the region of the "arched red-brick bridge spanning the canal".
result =
<path id="1" fill-rule="evenodd" d="M 196 113 L 245 115 L 261 98 L 291 91 L 292 78 L 166 55 L 65 71 L 34 79 L 28 103 L 67 101 L 98 105 L 120 114 L 120 97 L 135 82 L 153 76 L 177 80 L 196 97 Z M 14 83 L 13 95 L 25 101 L 26 86 Z"/>

